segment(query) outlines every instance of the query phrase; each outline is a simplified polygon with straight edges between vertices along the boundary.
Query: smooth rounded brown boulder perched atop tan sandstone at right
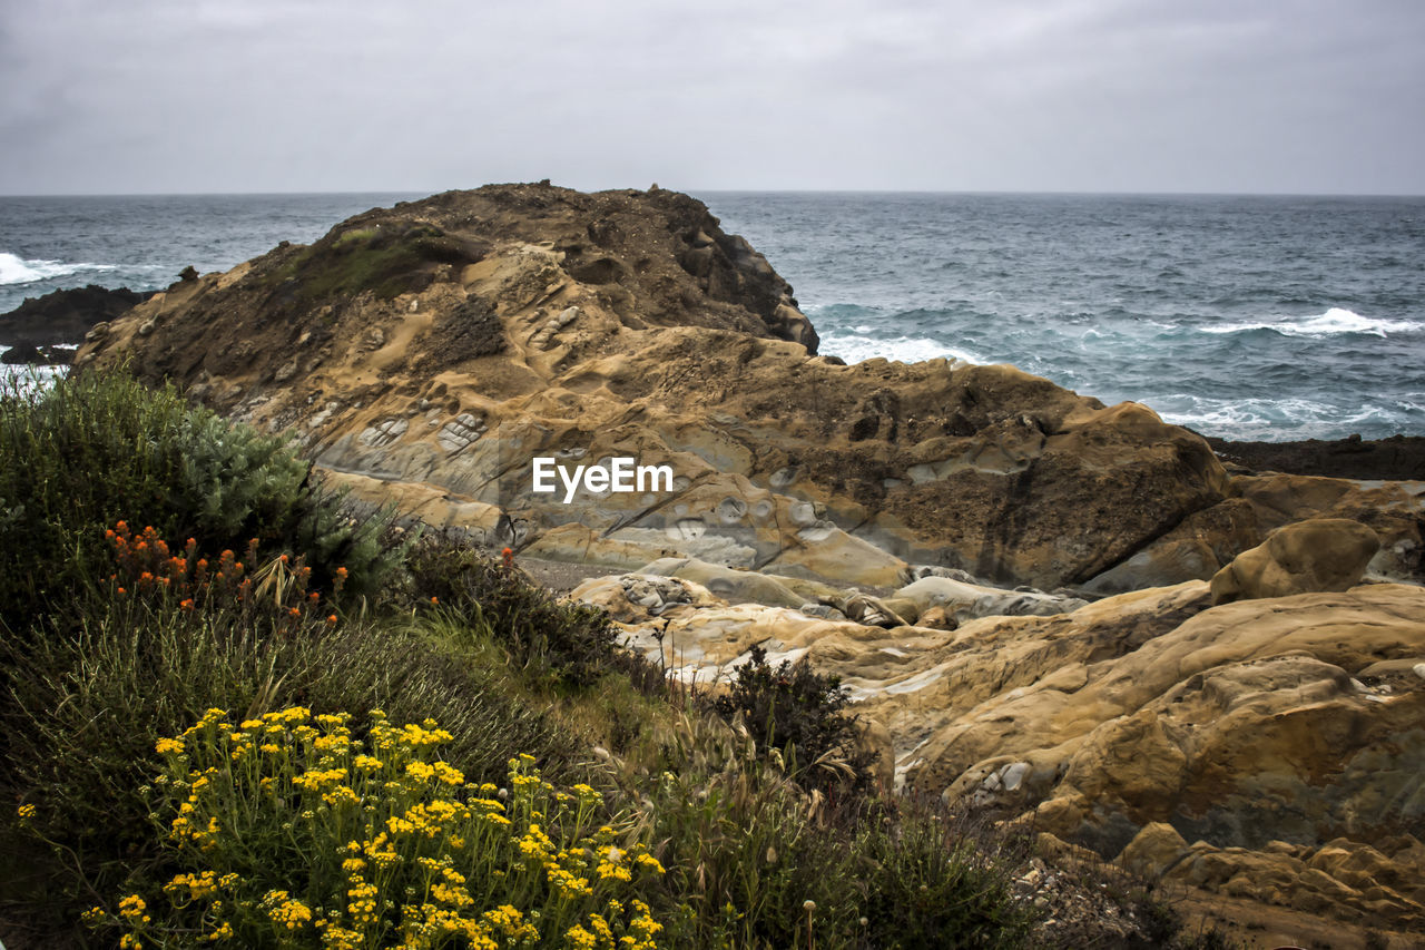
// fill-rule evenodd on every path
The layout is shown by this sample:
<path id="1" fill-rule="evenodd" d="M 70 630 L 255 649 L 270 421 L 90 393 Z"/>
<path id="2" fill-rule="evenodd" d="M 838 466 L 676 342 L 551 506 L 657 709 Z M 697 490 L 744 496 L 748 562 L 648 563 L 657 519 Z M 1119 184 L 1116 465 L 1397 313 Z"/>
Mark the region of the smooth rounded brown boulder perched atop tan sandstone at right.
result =
<path id="1" fill-rule="evenodd" d="M 1359 583 L 1381 542 L 1365 525 L 1312 518 L 1274 532 L 1213 575 L 1213 603 L 1347 591 Z"/>

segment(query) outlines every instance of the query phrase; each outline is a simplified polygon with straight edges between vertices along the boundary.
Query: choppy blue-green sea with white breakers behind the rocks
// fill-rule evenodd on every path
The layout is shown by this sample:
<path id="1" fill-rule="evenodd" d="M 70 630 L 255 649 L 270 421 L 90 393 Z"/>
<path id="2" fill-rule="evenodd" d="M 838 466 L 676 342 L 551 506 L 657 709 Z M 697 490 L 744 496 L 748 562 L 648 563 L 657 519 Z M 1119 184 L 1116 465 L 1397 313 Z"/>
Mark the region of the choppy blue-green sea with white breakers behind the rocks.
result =
<path id="1" fill-rule="evenodd" d="M 0 312 L 418 194 L 0 197 Z M 1235 439 L 1425 435 L 1425 197 L 697 193 L 848 362 L 1007 362 Z"/>

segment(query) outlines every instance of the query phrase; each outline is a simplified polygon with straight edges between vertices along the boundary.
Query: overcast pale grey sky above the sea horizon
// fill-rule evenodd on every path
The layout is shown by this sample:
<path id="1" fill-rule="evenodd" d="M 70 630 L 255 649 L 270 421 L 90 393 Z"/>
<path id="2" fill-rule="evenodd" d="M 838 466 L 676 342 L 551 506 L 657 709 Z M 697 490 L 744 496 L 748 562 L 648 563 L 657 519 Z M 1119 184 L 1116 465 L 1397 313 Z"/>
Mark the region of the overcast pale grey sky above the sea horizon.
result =
<path id="1" fill-rule="evenodd" d="M 0 194 L 1425 194 L 1419 0 L 0 0 Z"/>

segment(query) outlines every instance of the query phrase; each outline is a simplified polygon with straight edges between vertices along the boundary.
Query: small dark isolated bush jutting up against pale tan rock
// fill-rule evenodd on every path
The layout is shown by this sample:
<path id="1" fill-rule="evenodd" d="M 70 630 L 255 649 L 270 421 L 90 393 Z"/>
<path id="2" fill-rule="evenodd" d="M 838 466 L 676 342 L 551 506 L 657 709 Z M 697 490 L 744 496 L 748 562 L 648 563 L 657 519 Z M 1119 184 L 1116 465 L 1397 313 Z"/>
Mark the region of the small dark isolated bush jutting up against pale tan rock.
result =
<path id="1" fill-rule="evenodd" d="M 856 749 L 856 719 L 842 712 L 848 702 L 839 678 L 824 676 L 805 662 L 782 660 L 774 668 L 767 650 L 754 646 L 734 670 L 728 692 L 711 705 L 724 720 L 741 720 L 758 750 L 775 750 L 799 782 L 864 790 L 872 753 Z"/>

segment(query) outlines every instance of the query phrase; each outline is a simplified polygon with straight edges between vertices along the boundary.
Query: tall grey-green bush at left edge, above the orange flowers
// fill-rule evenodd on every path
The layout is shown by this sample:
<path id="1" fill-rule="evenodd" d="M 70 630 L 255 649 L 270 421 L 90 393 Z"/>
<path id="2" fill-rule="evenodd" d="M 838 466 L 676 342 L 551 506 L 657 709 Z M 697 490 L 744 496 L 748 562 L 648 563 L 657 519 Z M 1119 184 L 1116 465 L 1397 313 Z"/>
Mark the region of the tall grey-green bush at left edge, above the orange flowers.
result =
<path id="1" fill-rule="evenodd" d="M 282 438 L 120 374 L 76 372 L 0 394 L 0 620 L 23 630 L 100 576 L 118 519 L 164 538 L 302 553 L 326 583 L 370 593 L 399 565 L 389 515 L 353 518 Z M 104 575 L 107 576 L 107 575 Z"/>

